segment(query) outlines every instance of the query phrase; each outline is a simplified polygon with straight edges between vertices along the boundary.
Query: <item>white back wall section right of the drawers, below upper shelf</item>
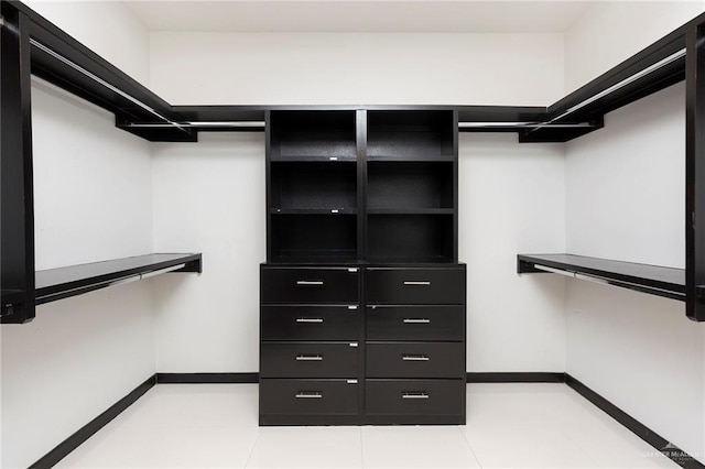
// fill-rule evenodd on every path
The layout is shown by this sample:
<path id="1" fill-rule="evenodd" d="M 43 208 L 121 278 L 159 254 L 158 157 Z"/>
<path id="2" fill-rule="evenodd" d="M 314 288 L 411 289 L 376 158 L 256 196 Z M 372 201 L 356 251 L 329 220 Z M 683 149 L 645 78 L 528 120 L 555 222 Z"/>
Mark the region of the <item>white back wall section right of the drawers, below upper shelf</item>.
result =
<path id="1" fill-rule="evenodd" d="M 563 144 L 462 133 L 459 259 L 468 371 L 565 370 L 560 275 L 517 275 L 518 253 L 564 251 Z"/>

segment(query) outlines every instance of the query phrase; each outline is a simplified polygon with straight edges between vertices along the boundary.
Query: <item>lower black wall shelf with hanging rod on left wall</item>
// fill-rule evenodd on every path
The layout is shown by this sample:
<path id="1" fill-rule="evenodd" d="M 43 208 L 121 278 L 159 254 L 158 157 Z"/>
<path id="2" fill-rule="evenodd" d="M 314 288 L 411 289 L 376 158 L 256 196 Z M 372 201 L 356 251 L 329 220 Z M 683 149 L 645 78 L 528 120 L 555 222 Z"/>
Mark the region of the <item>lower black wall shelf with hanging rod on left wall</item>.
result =
<path id="1" fill-rule="evenodd" d="M 202 272 L 202 254 L 155 253 L 37 271 L 36 304 L 166 272 Z"/>

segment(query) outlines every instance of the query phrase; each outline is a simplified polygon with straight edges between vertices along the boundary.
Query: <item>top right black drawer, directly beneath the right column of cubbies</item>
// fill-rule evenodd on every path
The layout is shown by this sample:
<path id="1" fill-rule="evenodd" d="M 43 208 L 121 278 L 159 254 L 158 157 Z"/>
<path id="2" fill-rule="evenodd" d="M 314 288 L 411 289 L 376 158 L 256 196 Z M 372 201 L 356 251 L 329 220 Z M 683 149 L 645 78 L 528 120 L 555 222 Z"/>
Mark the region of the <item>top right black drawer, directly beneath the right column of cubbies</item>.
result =
<path id="1" fill-rule="evenodd" d="M 465 265 L 460 268 L 369 268 L 365 271 L 367 303 L 392 305 L 464 305 Z"/>

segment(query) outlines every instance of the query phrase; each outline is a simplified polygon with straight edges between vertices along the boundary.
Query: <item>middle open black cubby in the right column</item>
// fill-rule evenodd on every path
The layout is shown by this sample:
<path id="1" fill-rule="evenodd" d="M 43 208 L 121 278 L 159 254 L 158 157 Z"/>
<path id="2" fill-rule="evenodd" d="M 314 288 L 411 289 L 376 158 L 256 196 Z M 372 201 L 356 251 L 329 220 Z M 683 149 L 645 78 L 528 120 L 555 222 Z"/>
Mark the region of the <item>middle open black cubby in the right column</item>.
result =
<path id="1" fill-rule="evenodd" d="M 453 162 L 370 162 L 367 207 L 378 209 L 453 208 Z"/>

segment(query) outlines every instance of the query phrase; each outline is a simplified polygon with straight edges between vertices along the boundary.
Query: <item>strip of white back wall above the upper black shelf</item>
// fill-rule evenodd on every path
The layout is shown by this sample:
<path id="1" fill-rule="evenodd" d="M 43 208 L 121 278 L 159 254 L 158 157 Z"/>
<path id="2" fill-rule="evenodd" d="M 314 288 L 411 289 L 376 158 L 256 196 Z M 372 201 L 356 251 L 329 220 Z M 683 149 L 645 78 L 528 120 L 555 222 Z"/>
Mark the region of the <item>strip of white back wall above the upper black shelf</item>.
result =
<path id="1" fill-rule="evenodd" d="M 151 34 L 173 103 L 535 105 L 563 91 L 561 34 Z"/>

